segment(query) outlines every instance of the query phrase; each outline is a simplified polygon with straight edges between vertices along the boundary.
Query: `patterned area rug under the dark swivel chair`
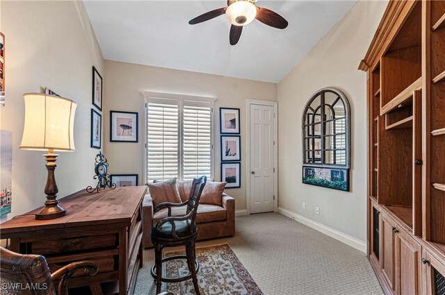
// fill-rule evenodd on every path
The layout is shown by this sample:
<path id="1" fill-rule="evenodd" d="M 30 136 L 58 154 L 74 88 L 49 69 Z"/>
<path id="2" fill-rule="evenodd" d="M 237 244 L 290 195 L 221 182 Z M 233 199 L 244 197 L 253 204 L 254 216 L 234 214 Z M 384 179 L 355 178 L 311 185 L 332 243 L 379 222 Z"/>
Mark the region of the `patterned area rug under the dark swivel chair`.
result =
<path id="1" fill-rule="evenodd" d="M 184 251 L 166 252 L 165 257 L 179 254 L 184 254 Z M 201 294 L 263 294 L 228 244 L 197 247 L 196 258 L 200 263 L 197 280 Z M 165 262 L 164 271 L 167 278 L 186 276 L 189 273 L 184 259 Z M 165 285 L 173 294 L 195 294 L 191 279 L 181 283 L 163 284 L 163 289 Z"/>

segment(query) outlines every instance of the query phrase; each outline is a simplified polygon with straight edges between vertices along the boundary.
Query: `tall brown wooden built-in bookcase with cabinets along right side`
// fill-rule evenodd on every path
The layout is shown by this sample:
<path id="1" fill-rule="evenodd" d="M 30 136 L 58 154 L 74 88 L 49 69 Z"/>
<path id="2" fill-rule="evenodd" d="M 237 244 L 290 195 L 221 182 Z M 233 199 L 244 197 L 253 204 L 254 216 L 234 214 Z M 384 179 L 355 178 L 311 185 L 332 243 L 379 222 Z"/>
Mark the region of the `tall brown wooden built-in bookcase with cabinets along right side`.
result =
<path id="1" fill-rule="evenodd" d="M 445 294 L 445 1 L 390 1 L 368 73 L 368 255 L 385 294 Z"/>

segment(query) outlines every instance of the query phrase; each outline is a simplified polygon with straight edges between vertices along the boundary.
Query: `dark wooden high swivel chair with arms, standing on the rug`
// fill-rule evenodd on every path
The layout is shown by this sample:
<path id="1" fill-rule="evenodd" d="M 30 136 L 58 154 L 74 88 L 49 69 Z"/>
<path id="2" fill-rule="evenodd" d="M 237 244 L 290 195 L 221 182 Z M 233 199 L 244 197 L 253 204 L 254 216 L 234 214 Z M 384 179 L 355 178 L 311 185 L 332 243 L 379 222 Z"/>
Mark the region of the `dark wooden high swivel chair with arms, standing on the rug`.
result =
<path id="1" fill-rule="evenodd" d="M 161 208 L 168 208 L 168 217 L 161 219 L 155 224 L 150 233 L 154 245 L 155 262 L 152 267 L 152 277 L 156 280 L 156 294 L 161 292 L 162 282 L 178 283 L 192 278 L 195 293 L 200 295 L 200 288 L 197 285 L 196 273 L 200 269 L 200 264 L 196 260 L 195 240 L 197 237 L 197 226 L 195 224 L 197 206 L 200 204 L 202 189 L 207 182 L 206 176 L 193 179 L 191 196 L 184 203 L 160 203 L 154 207 L 154 211 Z M 187 205 L 184 216 L 172 217 L 172 207 Z M 162 258 L 162 250 L 165 247 L 186 246 L 186 255 L 175 255 Z M 162 264 L 169 260 L 186 259 L 190 274 L 180 278 L 163 278 Z"/>

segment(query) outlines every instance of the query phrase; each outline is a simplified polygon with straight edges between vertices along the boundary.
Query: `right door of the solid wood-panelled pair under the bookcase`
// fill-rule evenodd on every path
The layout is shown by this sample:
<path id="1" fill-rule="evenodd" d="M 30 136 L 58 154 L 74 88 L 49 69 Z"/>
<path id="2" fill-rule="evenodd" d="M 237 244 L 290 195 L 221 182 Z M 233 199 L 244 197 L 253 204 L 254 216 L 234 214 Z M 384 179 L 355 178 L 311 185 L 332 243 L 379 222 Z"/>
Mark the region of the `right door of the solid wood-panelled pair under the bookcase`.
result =
<path id="1" fill-rule="evenodd" d="M 405 230 L 396 228 L 396 282 L 398 294 L 421 294 L 422 247 Z"/>

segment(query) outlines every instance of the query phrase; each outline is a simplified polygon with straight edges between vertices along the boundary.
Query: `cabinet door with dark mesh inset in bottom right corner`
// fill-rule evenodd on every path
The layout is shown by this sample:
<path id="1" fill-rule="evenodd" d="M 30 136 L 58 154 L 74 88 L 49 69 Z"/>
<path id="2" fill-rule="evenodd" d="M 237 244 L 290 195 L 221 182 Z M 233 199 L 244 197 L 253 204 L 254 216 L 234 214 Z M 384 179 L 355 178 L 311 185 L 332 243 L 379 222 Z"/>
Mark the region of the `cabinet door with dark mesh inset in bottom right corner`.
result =
<path id="1" fill-rule="evenodd" d="M 422 265 L 422 289 L 423 294 L 443 294 L 444 292 L 443 285 L 438 282 L 436 283 L 436 277 L 442 276 L 442 279 L 439 278 L 439 281 L 443 281 L 443 277 L 445 276 L 445 264 L 442 264 L 431 255 L 430 252 L 423 250 L 423 263 Z M 440 290 L 436 290 L 436 287 L 441 288 Z"/>

